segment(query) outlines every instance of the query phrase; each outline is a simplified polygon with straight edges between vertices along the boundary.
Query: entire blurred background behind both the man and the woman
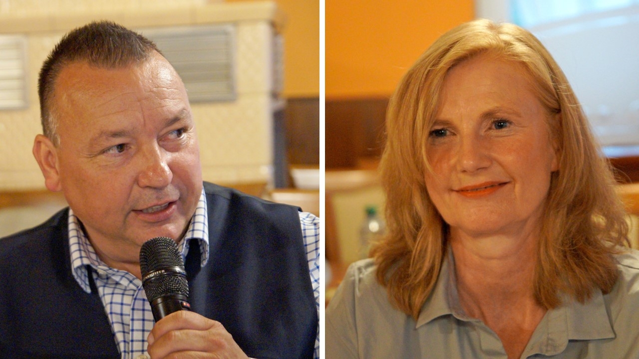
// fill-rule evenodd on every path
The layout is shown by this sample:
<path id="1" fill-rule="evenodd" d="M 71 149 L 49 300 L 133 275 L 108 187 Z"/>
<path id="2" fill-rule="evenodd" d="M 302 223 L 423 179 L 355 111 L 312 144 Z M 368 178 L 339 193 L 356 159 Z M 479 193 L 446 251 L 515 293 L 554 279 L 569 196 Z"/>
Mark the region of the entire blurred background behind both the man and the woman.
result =
<path id="1" fill-rule="evenodd" d="M 155 40 L 185 80 L 204 179 L 323 217 L 334 288 L 366 256 L 362 238 L 383 231 L 376 169 L 389 96 L 436 38 L 476 17 L 516 22 L 548 47 L 619 169 L 628 209 L 639 212 L 639 0 L 0 0 L 0 236 L 65 206 L 31 155 L 42 131 L 37 74 L 64 33 L 109 19 Z"/>

